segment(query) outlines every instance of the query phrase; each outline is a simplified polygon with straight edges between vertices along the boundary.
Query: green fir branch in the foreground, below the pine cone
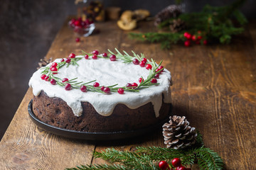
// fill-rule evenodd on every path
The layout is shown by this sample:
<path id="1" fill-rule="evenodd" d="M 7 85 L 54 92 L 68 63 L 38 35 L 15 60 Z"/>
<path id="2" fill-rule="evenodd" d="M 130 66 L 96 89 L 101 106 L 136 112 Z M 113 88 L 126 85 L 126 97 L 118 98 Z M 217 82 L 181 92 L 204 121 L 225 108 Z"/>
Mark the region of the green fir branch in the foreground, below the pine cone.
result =
<path id="1" fill-rule="evenodd" d="M 158 163 L 162 160 L 171 165 L 172 159 L 178 157 L 182 164 L 189 166 L 198 164 L 200 169 L 223 169 L 223 159 L 213 150 L 203 145 L 198 133 L 196 144 L 184 149 L 171 149 L 163 147 L 137 147 L 134 152 L 119 151 L 107 148 L 102 152 L 95 152 L 95 158 L 101 158 L 109 164 L 81 165 L 72 170 L 90 169 L 159 169 Z M 117 163 L 117 164 L 115 164 Z M 172 166 L 172 165 L 171 165 Z M 70 169 L 68 169 L 70 170 Z"/>

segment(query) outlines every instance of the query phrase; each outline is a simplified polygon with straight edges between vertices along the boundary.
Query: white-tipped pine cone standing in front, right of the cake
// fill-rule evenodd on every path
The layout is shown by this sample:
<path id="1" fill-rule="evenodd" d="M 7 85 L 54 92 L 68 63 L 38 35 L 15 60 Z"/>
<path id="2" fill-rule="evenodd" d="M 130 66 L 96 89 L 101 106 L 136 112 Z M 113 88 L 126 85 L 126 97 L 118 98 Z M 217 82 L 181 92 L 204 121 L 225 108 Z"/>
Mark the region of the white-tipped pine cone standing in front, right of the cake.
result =
<path id="1" fill-rule="evenodd" d="M 196 142 L 196 128 L 189 126 L 185 116 L 170 116 L 169 123 L 163 125 L 164 144 L 168 148 L 184 148 Z"/>

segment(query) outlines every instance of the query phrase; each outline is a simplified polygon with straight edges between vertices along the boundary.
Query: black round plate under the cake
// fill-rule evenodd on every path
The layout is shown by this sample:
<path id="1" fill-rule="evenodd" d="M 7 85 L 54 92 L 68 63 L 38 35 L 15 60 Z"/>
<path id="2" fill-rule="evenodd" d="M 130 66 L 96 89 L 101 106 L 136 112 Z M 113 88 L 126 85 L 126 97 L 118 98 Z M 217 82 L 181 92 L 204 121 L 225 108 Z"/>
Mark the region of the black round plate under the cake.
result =
<path id="1" fill-rule="evenodd" d="M 31 100 L 28 103 L 28 113 L 30 115 L 31 120 L 33 120 L 33 123 L 36 123 L 38 127 L 42 128 L 43 130 L 46 130 L 47 132 L 51 132 L 55 135 L 60 135 L 63 137 L 70 137 L 73 139 L 80 139 L 80 140 L 122 140 L 124 138 L 131 138 L 136 137 L 139 135 L 145 135 L 148 132 L 152 132 L 153 130 L 159 129 L 164 123 L 169 121 L 169 116 L 165 120 L 161 121 L 160 123 L 156 125 L 151 125 L 149 128 L 142 128 L 139 130 L 128 130 L 128 131 L 118 131 L 118 132 L 81 132 L 81 131 L 75 131 L 75 130 L 67 130 L 55 127 L 53 125 L 48 125 L 47 123 L 43 123 L 41 120 L 36 118 L 36 115 L 33 113 L 32 109 L 32 103 L 33 100 Z M 170 106 L 170 113 L 172 106 Z"/>

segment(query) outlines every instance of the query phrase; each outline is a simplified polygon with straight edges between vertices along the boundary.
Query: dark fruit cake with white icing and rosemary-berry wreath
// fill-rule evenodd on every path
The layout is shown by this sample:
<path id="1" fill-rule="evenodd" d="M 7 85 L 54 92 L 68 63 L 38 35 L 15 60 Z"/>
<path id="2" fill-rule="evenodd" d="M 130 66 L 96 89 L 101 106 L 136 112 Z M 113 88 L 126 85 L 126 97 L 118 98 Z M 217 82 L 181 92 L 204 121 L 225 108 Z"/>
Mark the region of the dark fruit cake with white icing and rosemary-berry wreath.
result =
<path id="1" fill-rule="evenodd" d="M 83 132 L 156 125 L 169 117 L 170 85 L 171 73 L 161 63 L 118 50 L 72 53 L 38 69 L 29 81 L 39 120 Z"/>

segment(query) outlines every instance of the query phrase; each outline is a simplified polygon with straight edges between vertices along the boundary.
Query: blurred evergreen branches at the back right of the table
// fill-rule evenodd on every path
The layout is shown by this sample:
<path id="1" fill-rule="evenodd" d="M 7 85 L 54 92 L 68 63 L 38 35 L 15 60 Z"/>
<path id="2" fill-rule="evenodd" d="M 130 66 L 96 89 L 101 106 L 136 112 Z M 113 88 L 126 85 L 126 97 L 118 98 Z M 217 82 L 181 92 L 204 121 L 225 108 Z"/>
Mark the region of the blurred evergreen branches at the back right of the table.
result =
<path id="1" fill-rule="evenodd" d="M 214 7 L 206 5 L 201 12 L 183 13 L 177 18 L 170 18 L 159 24 L 159 28 L 168 27 L 174 19 L 181 19 L 185 23 L 186 29 L 178 33 L 129 33 L 132 39 L 161 42 L 161 47 L 170 48 L 171 44 L 184 42 L 185 32 L 192 35 L 201 35 L 203 40 L 211 40 L 228 44 L 233 35 L 238 35 L 244 31 L 243 26 L 247 23 L 245 16 L 238 10 L 245 0 L 235 1 L 229 6 Z M 234 25 L 233 23 L 236 23 Z M 198 31 L 200 30 L 200 33 Z"/>

